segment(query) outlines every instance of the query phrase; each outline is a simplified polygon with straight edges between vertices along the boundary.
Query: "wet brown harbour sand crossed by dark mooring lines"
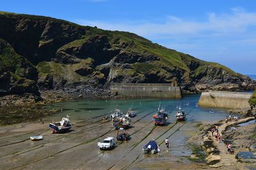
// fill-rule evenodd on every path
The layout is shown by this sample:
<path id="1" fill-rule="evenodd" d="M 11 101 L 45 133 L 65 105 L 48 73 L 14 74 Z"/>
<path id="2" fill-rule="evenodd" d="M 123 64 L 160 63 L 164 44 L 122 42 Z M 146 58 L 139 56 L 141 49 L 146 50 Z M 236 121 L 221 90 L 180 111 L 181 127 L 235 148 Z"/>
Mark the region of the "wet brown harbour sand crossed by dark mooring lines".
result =
<path id="1" fill-rule="evenodd" d="M 65 134 L 52 134 L 48 123 L 26 123 L 0 127 L 0 169 L 202 169 L 204 163 L 191 162 L 186 144 L 179 133 L 195 134 L 193 122 L 172 122 L 154 126 L 146 121 L 152 113 L 138 114 L 129 129 L 131 140 L 118 141 L 113 150 L 99 150 L 97 141 L 108 136 L 116 137 L 116 130 L 102 117 L 88 122 L 77 122 Z M 29 136 L 42 135 L 41 141 L 30 141 Z M 169 138 L 170 150 L 166 152 L 164 139 Z M 145 155 L 144 145 L 156 139 L 161 154 Z M 179 155 L 180 156 L 177 156 Z M 185 156 L 184 156 L 185 155 Z M 186 156 L 187 155 L 187 156 Z"/>

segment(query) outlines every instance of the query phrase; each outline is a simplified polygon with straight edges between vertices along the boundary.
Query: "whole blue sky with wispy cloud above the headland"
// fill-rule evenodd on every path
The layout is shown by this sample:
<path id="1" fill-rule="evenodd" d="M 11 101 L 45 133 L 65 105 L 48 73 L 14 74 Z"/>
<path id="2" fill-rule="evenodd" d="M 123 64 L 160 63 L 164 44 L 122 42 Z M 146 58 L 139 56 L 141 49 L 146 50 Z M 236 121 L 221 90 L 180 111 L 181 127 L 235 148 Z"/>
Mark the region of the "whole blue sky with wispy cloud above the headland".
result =
<path id="1" fill-rule="evenodd" d="M 0 10 L 134 32 L 238 73 L 256 74 L 254 0 L 5 0 Z"/>

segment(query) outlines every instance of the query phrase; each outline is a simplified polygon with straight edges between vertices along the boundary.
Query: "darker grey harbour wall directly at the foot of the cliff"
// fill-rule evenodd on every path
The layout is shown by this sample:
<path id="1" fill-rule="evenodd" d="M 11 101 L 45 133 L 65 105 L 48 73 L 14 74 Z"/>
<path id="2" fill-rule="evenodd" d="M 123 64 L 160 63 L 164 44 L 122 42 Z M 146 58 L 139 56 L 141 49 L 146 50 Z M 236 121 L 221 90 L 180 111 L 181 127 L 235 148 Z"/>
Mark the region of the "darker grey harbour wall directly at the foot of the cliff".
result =
<path id="1" fill-rule="evenodd" d="M 180 87 L 172 87 L 168 83 L 111 83 L 111 92 L 118 92 L 132 97 L 161 97 L 180 99 Z"/>

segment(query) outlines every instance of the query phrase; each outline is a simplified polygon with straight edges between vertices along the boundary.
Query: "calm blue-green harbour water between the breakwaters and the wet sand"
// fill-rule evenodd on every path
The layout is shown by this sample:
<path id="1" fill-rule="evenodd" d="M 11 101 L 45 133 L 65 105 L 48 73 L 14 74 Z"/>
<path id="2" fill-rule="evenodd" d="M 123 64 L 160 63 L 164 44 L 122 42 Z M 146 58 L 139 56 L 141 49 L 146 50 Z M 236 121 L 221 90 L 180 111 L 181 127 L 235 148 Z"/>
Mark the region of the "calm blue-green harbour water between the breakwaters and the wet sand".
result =
<path id="1" fill-rule="evenodd" d="M 227 117 L 226 110 L 214 109 L 215 113 L 209 113 L 211 108 L 196 107 L 200 94 L 184 96 L 182 99 L 112 99 L 112 100 L 92 100 L 81 99 L 77 101 L 68 101 L 62 103 L 54 103 L 47 106 L 49 109 L 60 109 L 59 113 L 51 115 L 51 117 L 44 118 L 45 121 L 60 120 L 67 114 L 73 123 L 86 121 L 90 118 L 100 115 L 106 115 L 113 112 L 115 109 L 120 109 L 124 113 L 132 107 L 136 111 L 142 111 L 142 114 L 147 114 L 151 111 L 157 110 L 159 102 L 161 108 L 169 113 L 169 122 L 175 122 L 176 107 L 181 106 L 188 114 L 187 122 L 215 122 L 216 120 Z M 189 103 L 186 105 L 185 103 Z M 153 113 L 152 113 L 153 115 Z M 150 121 L 151 117 L 145 117 L 144 121 Z"/>

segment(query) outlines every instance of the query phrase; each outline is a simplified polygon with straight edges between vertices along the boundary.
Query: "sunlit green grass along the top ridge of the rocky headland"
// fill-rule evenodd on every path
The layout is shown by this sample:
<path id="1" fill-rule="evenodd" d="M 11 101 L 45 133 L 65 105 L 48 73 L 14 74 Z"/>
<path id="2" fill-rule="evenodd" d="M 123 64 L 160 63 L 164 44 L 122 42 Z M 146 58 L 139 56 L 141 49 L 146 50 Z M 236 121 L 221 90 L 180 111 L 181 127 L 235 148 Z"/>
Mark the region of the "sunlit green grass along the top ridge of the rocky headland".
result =
<path id="1" fill-rule="evenodd" d="M 169 66 L 175 66 L 179 67 L 180 69 L 183 69 L 185 71 L 191 72 L 186 65 L 186 63 L 181 59 L 181 55 L 183 57 L 186 57 L 188 60 L 193 60 L 196 62 L 200 62 L 200 67 L 198 67 L 195 70 L 195 74 L 200 73 L 200 71 L 203 71 L 205 67 L 207 67 L 209 64 L 213 67 L 217 67 L 218 69 L 223 69 L 227 71 L 228 73 L 236 76 L 237 73 L 232 71 L 231 69 L 228 69 L 225 66 L 222 66 L 220 64 L 214 63 L 214 62 L 205 62 L 203 60 L 195 59 L 194 57 L 191 57 L 190 55 L 177 52 L 175 50 L 171 50 L 168 48 L 165 48 L 164 46 L 158 45 L 156 43 L 152 43 L 148 39 L 142 38 L 136 34 L 130 33 L 130 32 L 122 32 L 122 31 L 104 31 L 102 29 L 97 29 L 97 27 L 88 27 L 88 26 L 81 26 L 74 24 L 72 22 L 67 22 L 65 20 L 58 20 L 56 18 L 51 17 L 42 17 L 37 15 L 25 15 L 25 14 L 16 14 L 16 13 L 8 13 L 5 11 L 0 11 L 0 17 L 3 15 L 6 18 L 29 18 L 33 20 L 54 20 L 55 22 L 61 22 L 64 24 L 70 24 L 74 27 L 80 27 L 80 28 L 86 28 L 86 35 L 83 36 L 82 39 L 76 39 L 75 41 L 72 41 L 71 43 L 68 43 L 67 45 L 62 46 L 59 50 L 63 50 L 65 48 L 68 48 L 70 46 L 81 46 L 84 42 L 86 42 L 89 38 L 95 35 L 103 34 L 106 35 L 109 39 L 109 42 L 112 46 L 120 45 L 122 43 L 129 43 L 132 44 L 132 47 L 124 48 L 124 51 L 132 52 L 132 53 L 149 53 L 156 55 L 157 57 L 160 57 L 164 64 L 168 64 Z M 147 66 L 145 66 L 147 67 Z"/>

